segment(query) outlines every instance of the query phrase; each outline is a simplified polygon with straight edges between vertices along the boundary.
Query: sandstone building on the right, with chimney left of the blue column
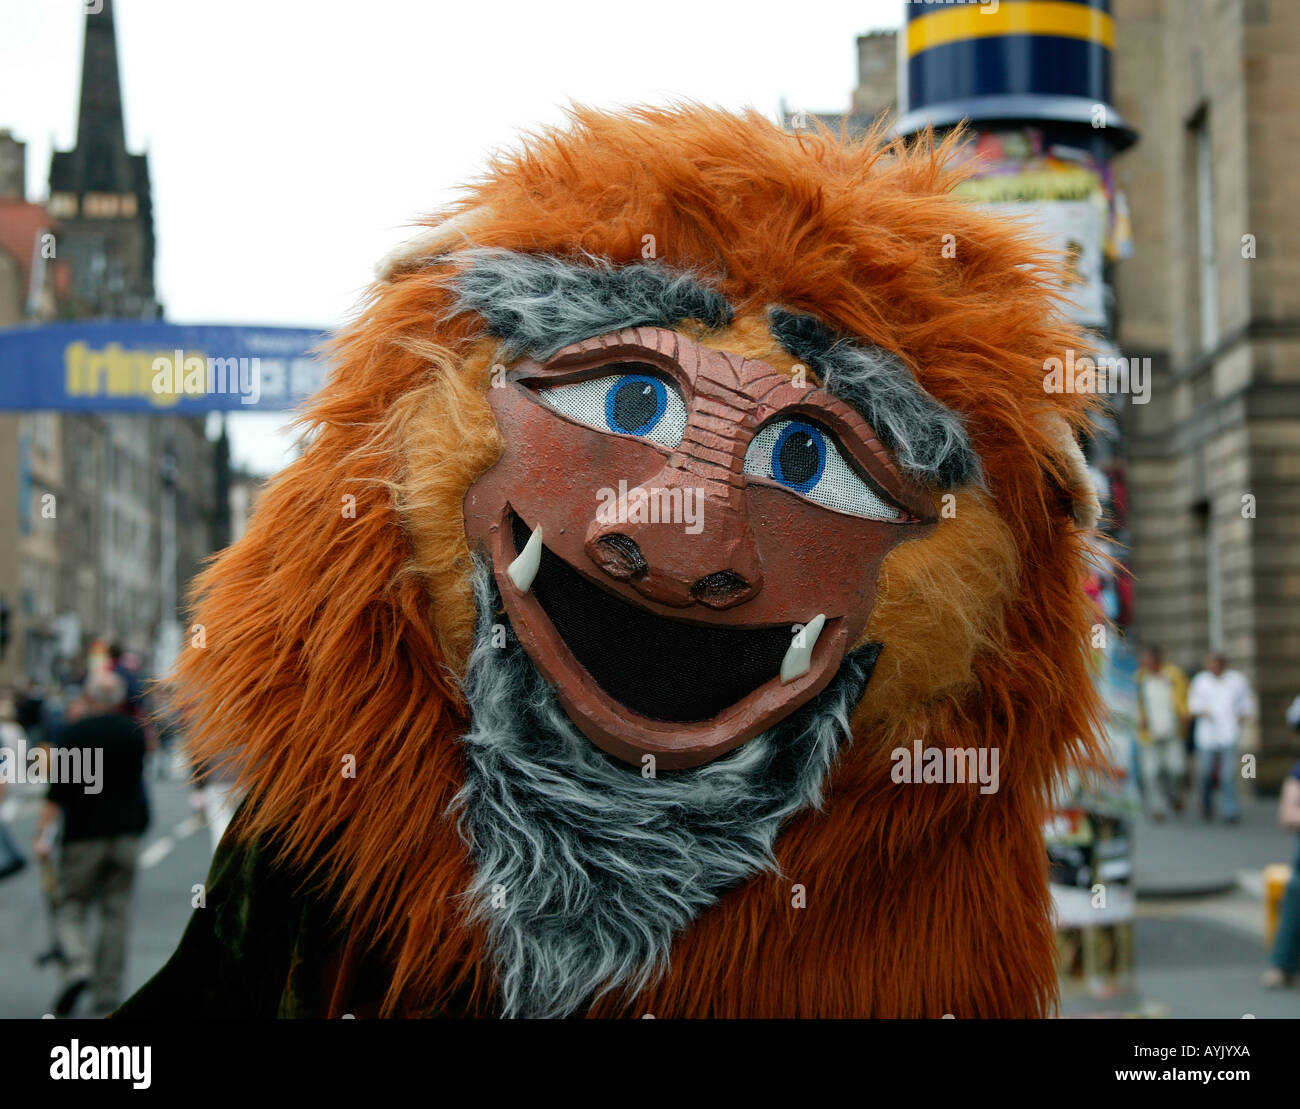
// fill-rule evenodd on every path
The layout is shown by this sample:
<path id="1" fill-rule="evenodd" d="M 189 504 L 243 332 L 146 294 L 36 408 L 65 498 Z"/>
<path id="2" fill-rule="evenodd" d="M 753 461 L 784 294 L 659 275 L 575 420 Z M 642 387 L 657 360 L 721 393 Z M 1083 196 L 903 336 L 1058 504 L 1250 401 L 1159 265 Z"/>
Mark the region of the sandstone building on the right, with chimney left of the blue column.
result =
<path id="1" fill-rule="evenodd" d="M 1153 376 L 1150 403 L 1117 410 L 1127 634 L 1247 673 L 1271 789 L 1300 754 L 1283 719 L 1300 693 L 1300 5 L 1109 10 L 1114 107 L 1141 138 L 1110 161 L 1131 251 L 1106 269 L 1105 330 Z M 858 57 L 850 129 L 900 104 L 898 36 L 861 36 Z"/>

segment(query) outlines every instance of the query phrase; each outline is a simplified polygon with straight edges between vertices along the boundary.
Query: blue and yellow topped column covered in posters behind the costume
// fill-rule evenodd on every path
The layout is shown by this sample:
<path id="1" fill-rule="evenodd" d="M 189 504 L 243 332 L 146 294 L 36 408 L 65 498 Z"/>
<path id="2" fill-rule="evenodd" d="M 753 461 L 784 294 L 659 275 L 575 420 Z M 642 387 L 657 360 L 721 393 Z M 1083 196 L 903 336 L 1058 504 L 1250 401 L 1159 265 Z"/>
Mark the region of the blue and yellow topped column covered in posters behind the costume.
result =
<path id="1" fill-rule="evenodd" d="M 1127 204 L 1110 157 L 1136 140 L 1112 104 L 1115 21 L 1109 0 L 905 0 L 897 133 L 937 133 L 968 121 L 962 157 L 978 159 L 956 195 L 1031 221 L 1041 242 L 1069 259 L 1063 313 L 1112 347 L 1110 267 L 1124 256 Z M 1122 558 L 1127 527 L 1118 421 L 1101 421 L 1086 445 L 1106 510 L 1100 545 Z M 1112 542 L 1113 541 L 1113 542 Z M 1097 621 L 1115 634 L 1093 642 L 1098 688 L 1110 707 L 1109 740 L 1123 764 L 1132 740 L 1131 651 L 1123 575 L 1097 560 L 1088 586 Z M 1061 992 L 1069 1011 L 1134 1011 L 1132 828 L 1123 793 L 1080 781 L 1054 798 L 1045 827 L 1057 917 Z"/>

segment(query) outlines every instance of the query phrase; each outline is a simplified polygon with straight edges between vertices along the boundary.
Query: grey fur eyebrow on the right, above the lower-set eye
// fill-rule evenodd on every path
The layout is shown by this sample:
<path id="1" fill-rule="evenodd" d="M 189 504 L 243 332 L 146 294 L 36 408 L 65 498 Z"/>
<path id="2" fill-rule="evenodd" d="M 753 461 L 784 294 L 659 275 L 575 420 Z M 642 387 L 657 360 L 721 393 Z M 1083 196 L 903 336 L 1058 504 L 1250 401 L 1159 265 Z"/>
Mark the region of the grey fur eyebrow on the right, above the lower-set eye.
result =
<path id="1" fill-rule="evenodd" d="M 814 316 L 772 307 L 767 317 L 772 337 L 858 410 L 905 471 L 944 489 L 983 482 L 962 417 L 926 393 L 897 355 L 841 338 Z"/>

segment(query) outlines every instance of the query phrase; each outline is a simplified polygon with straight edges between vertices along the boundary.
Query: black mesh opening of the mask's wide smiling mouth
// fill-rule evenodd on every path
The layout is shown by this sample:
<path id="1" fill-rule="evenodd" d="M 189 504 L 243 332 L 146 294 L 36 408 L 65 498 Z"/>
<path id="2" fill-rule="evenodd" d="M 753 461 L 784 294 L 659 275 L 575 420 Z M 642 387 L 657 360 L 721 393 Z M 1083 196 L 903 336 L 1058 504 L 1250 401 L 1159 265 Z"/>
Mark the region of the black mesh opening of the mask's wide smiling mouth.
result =
<path id="1" fill-rule="evenodd" d="M 510 514 L 515 550 L 528 525 Z M 532 594 L 564 645 L 620 705 L 651 720 L 710 720 L 777 676 L 792 629 L 727 628 L 656 616 L 601 589 L 542 545 Z"/>

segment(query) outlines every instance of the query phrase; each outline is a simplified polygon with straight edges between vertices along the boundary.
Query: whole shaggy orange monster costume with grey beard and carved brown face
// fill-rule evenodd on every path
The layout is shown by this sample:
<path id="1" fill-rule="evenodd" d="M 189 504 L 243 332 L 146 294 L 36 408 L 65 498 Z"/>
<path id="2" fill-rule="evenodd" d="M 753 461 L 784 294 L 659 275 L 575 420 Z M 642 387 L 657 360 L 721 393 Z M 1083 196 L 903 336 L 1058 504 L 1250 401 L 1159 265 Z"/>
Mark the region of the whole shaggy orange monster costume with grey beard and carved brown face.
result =
<path id="1" fill-rule="evenodd" d="M 248 800 L 121 1015 L 1050 1010 L 1088 398 L 950 153 L 576 111 L 389 259 L 199 581 Z"/>

